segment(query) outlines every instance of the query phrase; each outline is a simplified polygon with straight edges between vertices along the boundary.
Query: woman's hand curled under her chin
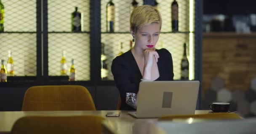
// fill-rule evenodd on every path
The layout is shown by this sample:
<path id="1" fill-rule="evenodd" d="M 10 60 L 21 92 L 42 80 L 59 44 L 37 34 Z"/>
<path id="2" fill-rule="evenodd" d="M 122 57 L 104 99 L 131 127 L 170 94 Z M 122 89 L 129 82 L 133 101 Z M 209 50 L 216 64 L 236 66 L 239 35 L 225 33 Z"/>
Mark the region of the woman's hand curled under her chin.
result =
<path id="1" fill-rule="evenodd" d="M 153 61 L 158 62 L 159 55 L 158 53 L 154 50 L 148 50 L 146 49 L 144 51 L 144 69 L 151 69 L 153 65 Z"/>

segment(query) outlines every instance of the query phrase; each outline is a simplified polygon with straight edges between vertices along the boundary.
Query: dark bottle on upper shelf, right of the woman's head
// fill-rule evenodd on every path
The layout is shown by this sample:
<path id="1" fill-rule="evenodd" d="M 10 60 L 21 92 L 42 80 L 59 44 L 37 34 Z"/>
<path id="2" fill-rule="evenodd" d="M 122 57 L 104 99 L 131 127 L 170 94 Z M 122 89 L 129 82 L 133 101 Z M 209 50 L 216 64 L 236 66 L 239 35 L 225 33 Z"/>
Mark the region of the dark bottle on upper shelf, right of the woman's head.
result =
<path id="1" fill-rule="evenodd" d="M 179 31 L 179 5 L 176 0 L 171 3 L 171 28 L 173 32 Z"/>

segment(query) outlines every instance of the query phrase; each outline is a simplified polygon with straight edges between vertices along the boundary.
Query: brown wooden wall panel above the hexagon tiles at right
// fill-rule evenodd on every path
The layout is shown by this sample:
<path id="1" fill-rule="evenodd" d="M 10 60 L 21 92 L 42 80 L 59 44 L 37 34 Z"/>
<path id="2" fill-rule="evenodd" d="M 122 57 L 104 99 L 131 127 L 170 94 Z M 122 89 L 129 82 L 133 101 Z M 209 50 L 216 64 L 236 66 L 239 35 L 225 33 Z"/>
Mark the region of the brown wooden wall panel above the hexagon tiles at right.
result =
<path id="1" fill-rule="evenodd" d="M 228 90 L 248 90 L 256 77 L 256 33 L 203 34 L 203 93 L 215 77 Z"/>

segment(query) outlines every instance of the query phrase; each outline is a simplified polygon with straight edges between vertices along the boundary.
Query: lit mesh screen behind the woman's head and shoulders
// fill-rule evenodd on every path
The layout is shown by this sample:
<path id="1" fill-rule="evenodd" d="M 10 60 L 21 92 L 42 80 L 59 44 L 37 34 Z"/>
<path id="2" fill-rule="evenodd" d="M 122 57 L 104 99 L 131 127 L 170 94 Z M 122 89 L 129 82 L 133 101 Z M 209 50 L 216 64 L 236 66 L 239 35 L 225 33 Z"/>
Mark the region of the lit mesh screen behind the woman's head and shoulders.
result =
<path id="1" fill-rule="evenodd" d="M 130 31 L 130 5 L 132 0 L 113 0 L 115 4 L 115 32 L 106 33 L 106 5 L 109 0 L 101 0 L 101 42 L 105 44 L 105 54 L 107 55 L 107 67 L 109 70 L 108 79 L 113 80 L 110 67 L 112 60 L 120 52 L 120 42 L 123 42 L 122 52 L 126 52 L 130 49 L 129 41 L 132 39 Z M 179 32 L 171 32 L 171 3 L 172 0 L 157 0 L 158 9 L 162 15 L 163 25 L 159 41 L 156 48 L 166 48 L 171 52 L 173 57 L 173 71 L 174 79 L 179 80 L 181 77 L 181 59 L 183 55 L 183 44 L 187 44 L 188 59 L 190 57 L 189 64 L 194 65 L 195 62 L 195 35 L 189 33 L 189 3 L 191 0 L 176 0 L 179 4 Z M 137 0 L 139 5 L 143 5 L 142 0 Z M 192 10 L 195 10 L 194 5 Z M 193 18 L 192 20 L 194 20 Z M 192 28 L 192 32 L 195 28 Z M 191 29 L 190 29 L 191 30 Z M 122 33 L 118 33 L 122 32 Z M 133 44 L 134 45 L 134 44 Z M 192 68 L 190 71 L 194 72 Z M 192 73 L 194 75 L 194 73 Z M 194 78 L 194 77 L 193 77 Z"/>

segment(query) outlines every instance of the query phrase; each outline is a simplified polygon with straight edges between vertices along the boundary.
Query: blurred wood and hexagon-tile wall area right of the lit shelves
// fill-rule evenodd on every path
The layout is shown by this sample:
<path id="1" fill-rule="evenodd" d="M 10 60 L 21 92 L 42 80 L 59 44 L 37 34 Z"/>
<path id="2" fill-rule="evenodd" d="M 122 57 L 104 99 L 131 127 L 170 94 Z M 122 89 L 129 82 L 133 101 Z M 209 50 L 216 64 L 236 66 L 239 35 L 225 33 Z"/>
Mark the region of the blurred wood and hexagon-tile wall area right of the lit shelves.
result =
<path id="1" fill-rule="evenodd" d="M 256 9 L 254 0 L 203 0 L 203 101 L 231 103 L 230 111 L 256 115 Z"/>

